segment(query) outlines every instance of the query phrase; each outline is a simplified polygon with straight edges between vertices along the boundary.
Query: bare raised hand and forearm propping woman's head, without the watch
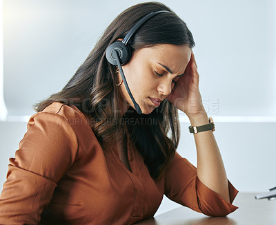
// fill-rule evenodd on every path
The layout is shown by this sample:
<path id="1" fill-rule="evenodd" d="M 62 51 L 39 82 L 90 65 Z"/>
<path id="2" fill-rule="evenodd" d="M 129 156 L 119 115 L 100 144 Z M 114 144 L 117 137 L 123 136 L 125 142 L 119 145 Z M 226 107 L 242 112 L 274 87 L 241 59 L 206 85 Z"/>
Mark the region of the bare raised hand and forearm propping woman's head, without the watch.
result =
<path id="1" fill-rule="evenodd" d="M 177 86 L 167 98 L 177 109 L 184 111 L 192 126 L 208 124 L 208 116 L 199 92 L 199 74 L 193 52 L 184 76 L 178 79 Z M 197 177 L 229 203 L 228 180 L 213 131 L 195 133 L 194 137 L 197 147 Z"/>

